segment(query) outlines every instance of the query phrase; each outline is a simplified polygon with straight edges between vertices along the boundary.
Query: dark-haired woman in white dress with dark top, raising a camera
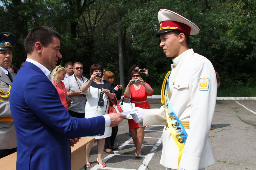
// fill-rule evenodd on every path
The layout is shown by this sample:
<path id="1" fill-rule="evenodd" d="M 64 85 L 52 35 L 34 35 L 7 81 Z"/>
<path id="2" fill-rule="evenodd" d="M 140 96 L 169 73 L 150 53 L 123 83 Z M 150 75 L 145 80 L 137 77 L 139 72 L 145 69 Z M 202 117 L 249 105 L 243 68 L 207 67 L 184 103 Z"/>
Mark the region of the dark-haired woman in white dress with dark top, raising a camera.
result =
<path id="1" fill-rule="evenodd" d="M 85 118 L 97 117 L 108 114 L 108 98 L 113 99 L 114 94 L 110 93 L 111 87 L 108 81 L 101 80 L 103 69 L 99 64 L 93 64 L 90 68 L 91 78 L 84 83 L 81 91 L 86 95 L 87 102 L 85 104 Z M 98 157 L 97 164 L 105 167 L 102 160 L 105 138 L 111 136 L 111 127 L 105 128 L 104 135 L 93 137 L 97 139 Z M 91 167 L 89 163 L 89 155 L 94 141 L 86 145 L 86 166 Z"/>

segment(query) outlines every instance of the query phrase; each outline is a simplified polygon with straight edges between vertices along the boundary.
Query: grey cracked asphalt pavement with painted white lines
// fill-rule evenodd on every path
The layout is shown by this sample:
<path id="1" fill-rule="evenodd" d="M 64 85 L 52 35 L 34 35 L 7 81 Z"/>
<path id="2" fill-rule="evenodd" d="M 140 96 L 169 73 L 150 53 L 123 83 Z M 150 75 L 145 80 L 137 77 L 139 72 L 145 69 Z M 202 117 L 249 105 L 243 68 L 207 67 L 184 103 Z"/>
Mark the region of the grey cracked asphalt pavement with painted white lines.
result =
<path id="1" fill-rule="evenodd" d="M 160 99 L 148 101 L 152 109 L 162 105 Z M 212 124 L 214 130 L 210 131 L 209 142 L 215 164 L 205 170 L 256 170 L 256 100 L 217 100 Z M 128 121 L 124 120 L 118 127 L 115 141 L 120 151 L 114 154 L 103 152 L 103 161 L 107 166 L 101 168 L 96 164 L 95 141 L 89 158 L 92 167 L 87 169 L 165 170 L 159 163 L 163 128 L 164 124 L 145 128 L 141 157 L 137 158 L 131 155 L 135 147 L 128 134 Z"/>

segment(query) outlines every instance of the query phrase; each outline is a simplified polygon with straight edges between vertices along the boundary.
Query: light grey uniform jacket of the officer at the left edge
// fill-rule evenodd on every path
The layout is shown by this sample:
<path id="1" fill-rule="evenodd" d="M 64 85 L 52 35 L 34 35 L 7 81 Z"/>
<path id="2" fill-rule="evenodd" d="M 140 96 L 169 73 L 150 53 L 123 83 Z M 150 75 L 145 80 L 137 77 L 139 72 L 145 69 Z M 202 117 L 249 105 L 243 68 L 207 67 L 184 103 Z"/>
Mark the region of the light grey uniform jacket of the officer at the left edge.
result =
<path id="1" fill-rule="evenodd" d="M 15 74 L 10 72 L 12 80 Z M 12 81 L 8 76 L 0 69 L 0 89 L 3 91 L 9 91 L 9 84 L 12 85 Z M 0 92 L 0 95 L 3 93 Z M 10 110 L 10 102 L 8 98 L 2 98 L 3 101 L 0 102 L 0 117 L 12 117 Z M 4 123 L 0 122 L 0 149 L 12 149 L 17 145 L 16 142 L 16 131 L 13 122 Z"/>

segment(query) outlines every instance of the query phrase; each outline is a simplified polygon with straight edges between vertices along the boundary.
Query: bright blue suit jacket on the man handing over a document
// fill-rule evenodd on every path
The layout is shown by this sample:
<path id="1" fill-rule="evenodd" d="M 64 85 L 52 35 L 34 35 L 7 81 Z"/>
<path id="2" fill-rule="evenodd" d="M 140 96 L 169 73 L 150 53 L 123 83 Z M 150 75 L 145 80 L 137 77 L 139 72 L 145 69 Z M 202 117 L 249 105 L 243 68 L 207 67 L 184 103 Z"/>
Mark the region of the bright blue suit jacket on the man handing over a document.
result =
<path id="1" fill-rule="evenodd" d="M 52 82 L 30 62 L 12 83 L 10 107 L 17 133 L 17 170 L 71 169 L 69 138 L 105 131 L 103 116 L 71 117 Z"/>

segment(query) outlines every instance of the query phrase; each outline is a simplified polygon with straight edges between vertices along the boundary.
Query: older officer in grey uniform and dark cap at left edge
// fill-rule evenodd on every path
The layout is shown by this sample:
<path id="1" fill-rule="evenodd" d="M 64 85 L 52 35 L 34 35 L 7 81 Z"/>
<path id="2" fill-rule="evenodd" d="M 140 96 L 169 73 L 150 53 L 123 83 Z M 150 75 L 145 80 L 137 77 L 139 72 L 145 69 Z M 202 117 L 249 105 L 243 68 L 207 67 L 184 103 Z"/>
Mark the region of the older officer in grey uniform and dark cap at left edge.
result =
<path id="1" fill-rule="evenodd" d="M 15 37 L 0 33 L 0 158 L 16 152 L 16 132 L 9 104 L 10 90 L 15 74 L 10 71 L 12 46 Z"/>

